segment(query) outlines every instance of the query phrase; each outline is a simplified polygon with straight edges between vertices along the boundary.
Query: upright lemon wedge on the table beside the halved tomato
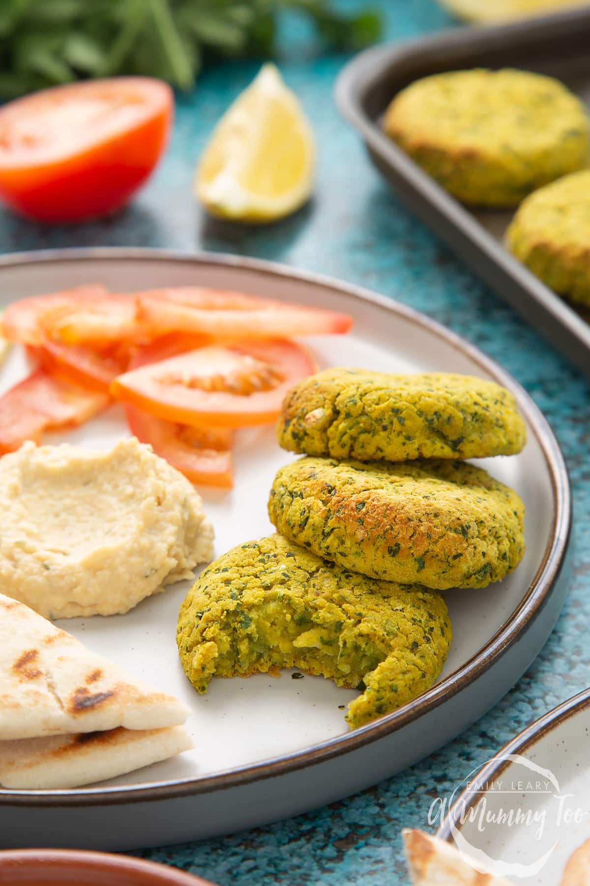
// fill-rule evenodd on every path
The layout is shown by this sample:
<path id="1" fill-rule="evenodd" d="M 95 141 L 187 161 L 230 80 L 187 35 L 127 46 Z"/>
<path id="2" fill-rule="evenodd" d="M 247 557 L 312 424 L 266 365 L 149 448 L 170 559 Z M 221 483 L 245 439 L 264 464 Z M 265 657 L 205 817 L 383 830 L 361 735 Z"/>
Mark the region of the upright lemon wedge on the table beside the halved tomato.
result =
<path id="1" fill-rule="evenodd" d="M 219 120 L 197 167 L 195 194 L 213 215 L 275 221 L 310 197 L 314 144 L 298 98 L 274 65 Z"/>

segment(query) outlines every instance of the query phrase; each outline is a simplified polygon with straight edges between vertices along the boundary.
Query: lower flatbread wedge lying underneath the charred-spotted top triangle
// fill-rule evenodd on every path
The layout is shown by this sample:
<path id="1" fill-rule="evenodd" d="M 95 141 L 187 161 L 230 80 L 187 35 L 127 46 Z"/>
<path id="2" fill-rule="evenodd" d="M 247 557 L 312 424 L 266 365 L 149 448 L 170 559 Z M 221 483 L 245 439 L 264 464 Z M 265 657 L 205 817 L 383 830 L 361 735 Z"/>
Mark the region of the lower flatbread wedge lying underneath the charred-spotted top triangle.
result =
<path id="1" fill-rule="evenodd" d="M 78 788 L 174 757 L 193 742 L 184 727 L 111 729 L 0 742 L 0 785 Z"/>

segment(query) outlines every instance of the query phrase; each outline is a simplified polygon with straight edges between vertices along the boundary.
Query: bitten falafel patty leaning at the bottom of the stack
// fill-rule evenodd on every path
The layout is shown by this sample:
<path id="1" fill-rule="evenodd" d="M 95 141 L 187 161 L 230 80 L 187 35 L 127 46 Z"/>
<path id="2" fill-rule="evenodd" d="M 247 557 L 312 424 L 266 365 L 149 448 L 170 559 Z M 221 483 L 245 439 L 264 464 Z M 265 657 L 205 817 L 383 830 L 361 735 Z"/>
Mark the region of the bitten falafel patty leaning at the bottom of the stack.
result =
<path id="1" fill-rule="evenodd" d="M 434 591 L 367 579 L 272 535 L 233 548 L 196 579 L 176 639 L 197 692 L 213 674 L 282 667 L 362 688 L 345 714 L 355 728 L 433 685 L 451 624 Z"/>

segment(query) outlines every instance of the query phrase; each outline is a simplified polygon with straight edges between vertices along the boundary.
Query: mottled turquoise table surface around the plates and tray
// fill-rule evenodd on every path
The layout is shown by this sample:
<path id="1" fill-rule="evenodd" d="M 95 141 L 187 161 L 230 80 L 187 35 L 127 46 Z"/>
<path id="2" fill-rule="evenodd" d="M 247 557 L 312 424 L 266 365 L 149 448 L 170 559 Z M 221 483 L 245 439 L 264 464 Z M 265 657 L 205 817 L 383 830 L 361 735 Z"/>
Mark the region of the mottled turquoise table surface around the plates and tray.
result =
<path id="1" fill-rule="evenodd" d="M 381 0 L 387 39 L 452 24 L 434 0 Z M 359 8 L 350 0 L 349 8 Z M 407 882 L 400 831 L 426 827 L 433 797 L 448 796 L 522 727 L 590 683 L 590 397 L 588 381 L 410 217 L 333 104 L 347 60 L 319 56 L 299 25 L 287 27 L 280 66 L 318 141 L 315 197 L 268 228 L 211 221 L 191 196 L 195 159 L 219 115 L 258 63 L 207 69 L 180 96 L 172 144 L 157 174 L 123 214 L 47 229 L 0 212 L 0 251 L 86 245 L 166 246 L 241 253 L 363 284 L 445 323 L 525 385 L 563 447 L 575 499 L 575 579 L 556 630 L 533 666 L 486 717 L 417 766 L 377 787 L 266 828 L 138 852 L 229 886 Z"/>

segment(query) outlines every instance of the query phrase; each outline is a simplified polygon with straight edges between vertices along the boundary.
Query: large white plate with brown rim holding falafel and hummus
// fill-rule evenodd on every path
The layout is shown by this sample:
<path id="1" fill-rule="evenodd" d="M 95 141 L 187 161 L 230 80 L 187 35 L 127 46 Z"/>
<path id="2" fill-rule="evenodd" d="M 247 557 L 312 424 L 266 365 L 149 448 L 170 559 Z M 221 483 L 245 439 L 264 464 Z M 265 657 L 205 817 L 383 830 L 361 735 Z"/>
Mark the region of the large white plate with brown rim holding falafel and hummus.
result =
<path id="1" fill-rule="evenodd" d="M 493 361 L 424 315 L 358 287 L 263 261 L 155 250 L 21 253 L 0 259 L 4 304 L 96 281 L 113 290 L 204 284 L 346 311 L 345 337 L 309 339 L 320 366 L 392 372 L 453 371 L 493 378 L 516 395 L 528 424 L 525 452 L 481 462 L 525 500 L 527 551 L 508 579 L 485 591 L 446 593 L 455 640 L 441 679 L 414 702 L 349 732 L 341 705 L 355 693 L 330 680 L 213 680 L 197 696 L 180 668 L 174 633 L 187 583 L 125 616 L 61 622 L 91 649 L 184 699 L 195 750 L 88 789 L 0 790 L 0 845 L 123 849 L 229 833 L 286 818 L 400 772 L 461 733 L 518 680 L 562 609 L 571 494 L 563 456 L 525 391 Z M 0 306 L 1 307 L 1 306 Z M 18 352 L 2 389 L 25 371 Z M 119 408 L 67 439 L 108 447 L 126 433 Z M 203 490 L 216 553 L 272 531 L 266 498 L 290 457 L 272 428 L 241 434 L 231 493 Z"/>

